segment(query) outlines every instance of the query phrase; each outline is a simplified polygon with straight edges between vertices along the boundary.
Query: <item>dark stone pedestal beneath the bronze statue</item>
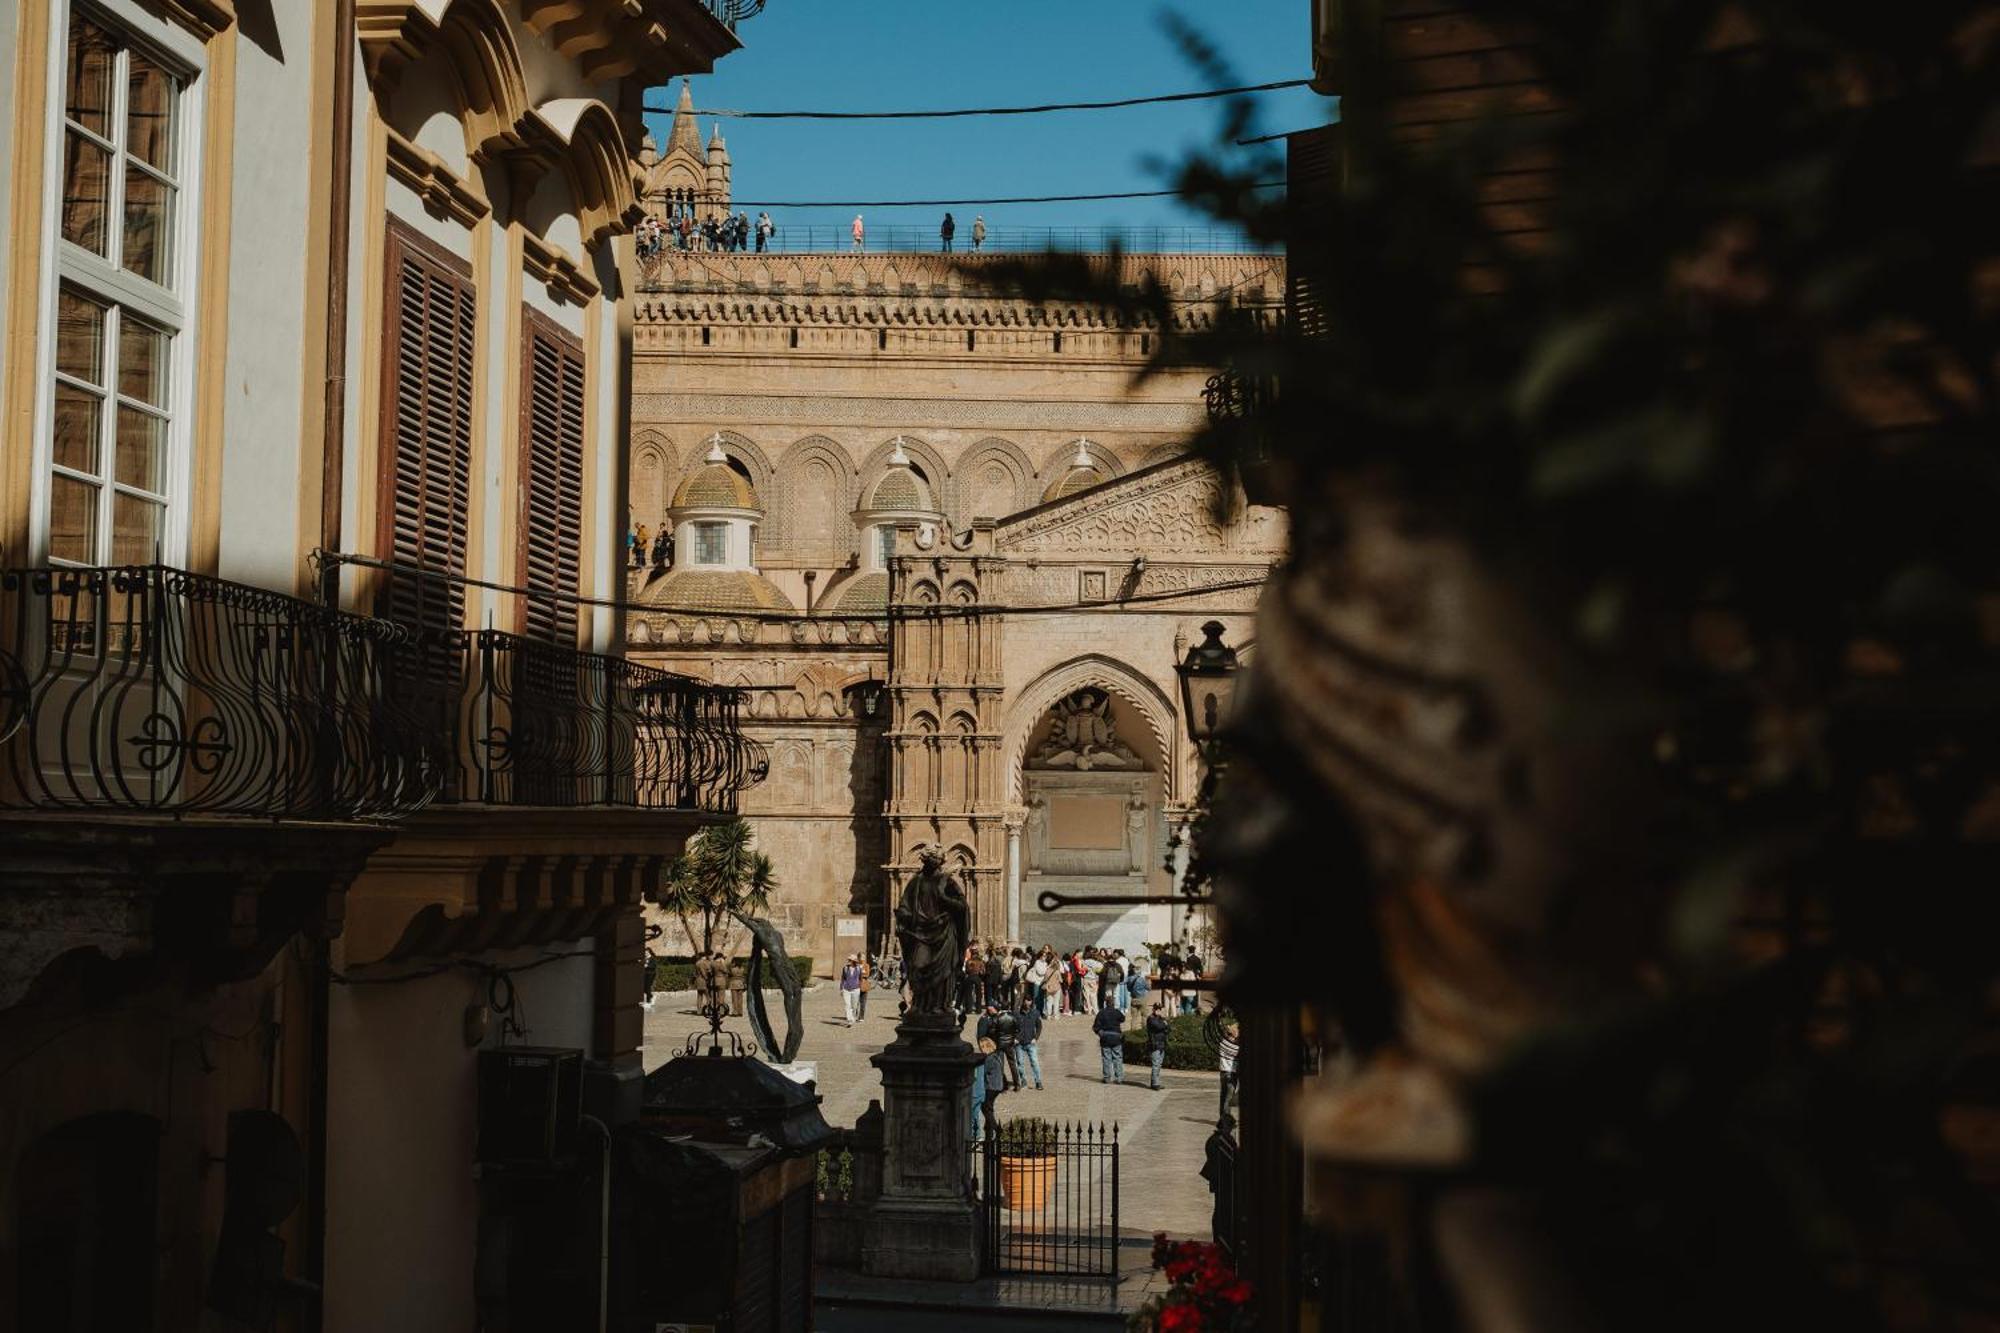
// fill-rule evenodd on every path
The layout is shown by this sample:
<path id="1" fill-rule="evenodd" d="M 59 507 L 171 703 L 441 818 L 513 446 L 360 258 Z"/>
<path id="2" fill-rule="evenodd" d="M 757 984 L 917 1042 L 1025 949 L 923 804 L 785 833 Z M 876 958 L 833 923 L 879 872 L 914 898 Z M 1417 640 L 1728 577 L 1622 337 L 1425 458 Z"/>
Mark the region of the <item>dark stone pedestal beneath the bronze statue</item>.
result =
<path id="1" fill-rule="evenodd" d="M 882 1195 L 868 1215 L 862 1271 L 972 1281 L 984 1237 L 966 1123 L 980 1053 L 950 1015 L 926 1015 L 904 1019 L 870 1063 L 882 1071 Z"/>

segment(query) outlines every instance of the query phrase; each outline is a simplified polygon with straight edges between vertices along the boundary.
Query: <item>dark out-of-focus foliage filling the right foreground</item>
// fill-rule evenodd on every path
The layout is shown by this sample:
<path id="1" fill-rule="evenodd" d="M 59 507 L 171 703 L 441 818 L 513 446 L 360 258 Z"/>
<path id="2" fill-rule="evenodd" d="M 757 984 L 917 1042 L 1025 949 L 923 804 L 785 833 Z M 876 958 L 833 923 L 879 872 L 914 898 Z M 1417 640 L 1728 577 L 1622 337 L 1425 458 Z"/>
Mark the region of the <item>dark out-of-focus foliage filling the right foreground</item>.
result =
<path id="1" fill-rule="evenodd" d="M 1232 979 L 1312 1003 L 1362 1055 L 1400 1035 L 1380 933 L 1400 887 L 1326 777 L 1352 771 L 1348 733 L 1308 705 L 1348 707 L 1398 785 L 1452 797 L 1458 765 L 1518 743 L 1504 797 L 1452 825 L 1468 855 L 1442 897 L 1518 931 L 1488 993 L 1530 993 L 1540 1031 L 1466 1091 L 1474 1171 L 1532 1191 L 1540 1253 L 1604 1305 L 1578 1323 L 1990 1321 L 1972 1273 L 2000 1223 L 1940 1125 L 2000 1085 L 1994 6 L 1468 0 L 1452 24 L 1532 34 L 1508 58 L 1552 114 L 1460 126 L 1398 114 L 1420 90 L 1382 56 L 1382 6 L 1326 8 L 1324 188 L 1250 188 L 1282 174 L 1256 152 L 1180 176 L 1286 246 L 1312 330 L 1176 322 L 1116 266 L 1010 274 L 1154 322 L 1160 366 L 1256 388 L 1200 442 L 1292 516 L 1266 616 L 1294 632 L 1260 628 L 1212 831 Z M 1356 548 L 1358 498 L 1412 556 Z M 1300 660 L 1300 626 L 1338 640 L 1434 598 L 1560 664 L 1554 715 L 1502 713 L 1508 685 L 1476 650 L 1426 658 L 1422 622 L 1350 642 L 1338 673 L 1334 648 Z M 1456 749 L 1368 731 L 1370 709 L 1456 697 L 1460 671 L 1498 689 L 1462 695 Z M 1316 685 L 1346 673 L 1382 697 Z M 1560 885 L 1510 879 L 1488 821 L 1560 827 L 1570 805 L 1590 815 L 1552 845 Z"/>

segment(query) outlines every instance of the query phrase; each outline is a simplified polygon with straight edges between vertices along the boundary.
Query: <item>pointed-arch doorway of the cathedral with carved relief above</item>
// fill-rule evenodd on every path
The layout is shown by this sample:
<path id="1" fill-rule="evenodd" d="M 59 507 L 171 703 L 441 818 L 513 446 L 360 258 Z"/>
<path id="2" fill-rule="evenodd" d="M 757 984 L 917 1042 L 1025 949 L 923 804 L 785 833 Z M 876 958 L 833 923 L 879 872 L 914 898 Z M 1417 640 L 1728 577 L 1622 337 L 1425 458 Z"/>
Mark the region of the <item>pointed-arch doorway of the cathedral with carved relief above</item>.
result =
<path id="1" fill-rule="evenodd" d="M 1008 777 L 1026 815 L 1008 837 L 1008 905 L 1024 943 L 1132 951 L 1162 937 L 1140 901 L 1166 891 L 1172 713 L 1156 695 L 1136 673 L 1076 662 L 1022 699 Z M 1044 891 L 1132 907 L 1044 913 Z"/>

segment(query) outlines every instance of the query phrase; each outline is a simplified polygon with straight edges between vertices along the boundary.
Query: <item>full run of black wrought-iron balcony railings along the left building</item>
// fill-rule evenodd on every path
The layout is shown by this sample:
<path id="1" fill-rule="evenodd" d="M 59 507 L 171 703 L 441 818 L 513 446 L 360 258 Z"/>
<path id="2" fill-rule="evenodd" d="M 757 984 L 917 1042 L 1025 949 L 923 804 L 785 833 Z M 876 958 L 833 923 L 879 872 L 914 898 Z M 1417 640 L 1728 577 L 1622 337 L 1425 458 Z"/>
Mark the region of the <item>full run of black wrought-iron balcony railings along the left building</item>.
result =
<path id="1" fill-rule="evenodd" d="M 0 570 L 0 809 L 732 813 L 764 775 L 740 701 L 622 658 L 414 630 L 160 564 Z"/>

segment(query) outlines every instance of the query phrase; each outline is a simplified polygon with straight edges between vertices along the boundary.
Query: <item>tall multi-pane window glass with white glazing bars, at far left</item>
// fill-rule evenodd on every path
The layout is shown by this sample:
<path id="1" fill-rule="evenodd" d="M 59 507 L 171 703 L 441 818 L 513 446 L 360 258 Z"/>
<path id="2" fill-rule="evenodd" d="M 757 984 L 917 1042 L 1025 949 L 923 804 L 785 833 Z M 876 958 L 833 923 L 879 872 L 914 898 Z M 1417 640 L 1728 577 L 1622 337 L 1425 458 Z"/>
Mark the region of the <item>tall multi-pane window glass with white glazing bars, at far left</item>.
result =
<path id="1" fill-rule="evenodd" d="M 184 328 L 176 246 L 186 80 L 96 18 L 68 22 L 48 450 L 48 556 L 158 558 Z"/>

